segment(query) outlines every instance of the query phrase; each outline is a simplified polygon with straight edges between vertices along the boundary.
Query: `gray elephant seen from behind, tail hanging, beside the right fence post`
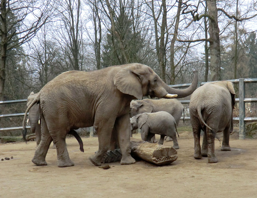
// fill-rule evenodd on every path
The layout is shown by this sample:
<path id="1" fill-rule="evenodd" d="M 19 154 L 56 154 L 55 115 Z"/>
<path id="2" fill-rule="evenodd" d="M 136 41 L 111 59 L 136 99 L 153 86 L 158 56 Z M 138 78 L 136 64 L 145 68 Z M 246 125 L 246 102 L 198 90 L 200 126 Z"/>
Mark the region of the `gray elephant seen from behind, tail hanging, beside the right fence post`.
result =
<path id="1" fill-rule="evenodd" d="M 216 163 L 214 138 L 223 131 L 222 151 L 230 151 L 229 136 L 233 130 L 235 91 L 232 82 L 208 82 L 197 88 L 189 104 L 190 120 L 194 134 L 194 158 L 208 156 L 209 163 Z M 204 131 L 202 151 L 200 130 Z"/>

